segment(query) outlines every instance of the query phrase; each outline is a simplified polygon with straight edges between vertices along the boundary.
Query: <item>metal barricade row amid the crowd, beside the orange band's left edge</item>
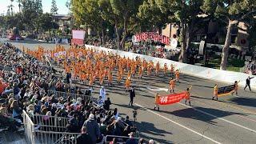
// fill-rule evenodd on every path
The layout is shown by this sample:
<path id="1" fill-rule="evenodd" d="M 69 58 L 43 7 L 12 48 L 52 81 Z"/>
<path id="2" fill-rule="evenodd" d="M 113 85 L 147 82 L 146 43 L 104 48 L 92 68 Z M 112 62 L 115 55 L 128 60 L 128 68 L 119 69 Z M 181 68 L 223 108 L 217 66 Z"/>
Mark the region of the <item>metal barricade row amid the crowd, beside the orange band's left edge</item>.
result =
<path id="1" fill-rule="evenodd" d="M 62 92 L 62 91 L 56 91 L 56 90 L 48 90 L 48 94 L 54 94 L 55 98 L 67 98 L 70 97 L 72 99 L 77 100 L 78 98 L 82 98 L 85 101 L 89 101 L 91 100 L 91 96 L 90 95 L 84 95 L 84 94 L 72 94 L 72 93 L 66 93 L 66 92 Z"/>

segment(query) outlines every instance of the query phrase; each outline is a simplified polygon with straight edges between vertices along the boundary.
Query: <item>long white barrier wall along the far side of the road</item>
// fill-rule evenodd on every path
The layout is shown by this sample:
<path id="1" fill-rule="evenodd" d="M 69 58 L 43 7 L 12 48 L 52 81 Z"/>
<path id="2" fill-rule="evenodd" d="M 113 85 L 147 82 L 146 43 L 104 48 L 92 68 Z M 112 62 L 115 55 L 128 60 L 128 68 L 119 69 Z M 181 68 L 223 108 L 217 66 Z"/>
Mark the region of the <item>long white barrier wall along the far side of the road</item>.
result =
<path id="1" fill-rule="evenodd" d="M 154 62 L 154 64 L 159 62 L 161 68 L 164 67 L 165 63 L 168 65 L 168 67 L 170 67 L 170 65 L 173 64 L 175 69 L 180 70 L 182 74 L 188 74 L 198 78 L 205 78 L 205 79 L 210 79 L 218 82 L 224 82 L 226 84 L 233 84 L 234 81 L 240 81 L 238 83 L 239 86 L 246 86 L 246 78 L 248 78 L 249 76 L 253 77 L 253 75 L 250 75 L 250 74 L 244 74 L 244 73 L 227 71 L 227 70 L 218 70 L 218 69 L 212 69 L 212 68 L 207 68 L 202 66 L 195 66 L 195 65 L 182 63 L 182 62 L 171 61 L 164 58 L 155 58 L 155 57 L 151 57 L 143 54 L 134 54 L 134 53 L 126 52 L 122 50 L 107 49 L 105 47 L 100 47 L 100 46 L 90 46 L 90 45 L 85 45 L 85 46 L 87 48 L 93 48 L 95 50 L 103 50 L 103 51 L 106 51 L 107 53 L 118 54 L 122 57 L 125 56 L 126 58 L 135 59 L 136 57 L 140 57 L 142 59 L 143 58 L 146 59 L 147 61 L 151 60 Z M 256 89 L 256 78 L 251 79 L 251 88 Z"/>

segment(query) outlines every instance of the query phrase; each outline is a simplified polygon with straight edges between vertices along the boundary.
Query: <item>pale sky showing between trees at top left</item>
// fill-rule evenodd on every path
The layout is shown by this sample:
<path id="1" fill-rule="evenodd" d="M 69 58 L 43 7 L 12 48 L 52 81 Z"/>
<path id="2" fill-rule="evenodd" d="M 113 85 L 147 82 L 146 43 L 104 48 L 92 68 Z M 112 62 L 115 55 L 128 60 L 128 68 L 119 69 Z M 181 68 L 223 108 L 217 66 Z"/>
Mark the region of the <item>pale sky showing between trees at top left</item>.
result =
<path id="1" fill-rule="evenodd" d="M 44 13 L 50 13 L 50 6 L 52 0 L 42 0 L 42 10 Z M 68 9 L 66 8 L 66 1 L 67 0 L 56 0 L 57 7 L 58 7 L 58 14 L 68 14 Z M 10 0 L 0 0 L 0 14 L 6 14 L 8 8 L 7 6 L 10 5 Z M 14 12 L 18 12 L 18 2 L 14 0 Z"/>

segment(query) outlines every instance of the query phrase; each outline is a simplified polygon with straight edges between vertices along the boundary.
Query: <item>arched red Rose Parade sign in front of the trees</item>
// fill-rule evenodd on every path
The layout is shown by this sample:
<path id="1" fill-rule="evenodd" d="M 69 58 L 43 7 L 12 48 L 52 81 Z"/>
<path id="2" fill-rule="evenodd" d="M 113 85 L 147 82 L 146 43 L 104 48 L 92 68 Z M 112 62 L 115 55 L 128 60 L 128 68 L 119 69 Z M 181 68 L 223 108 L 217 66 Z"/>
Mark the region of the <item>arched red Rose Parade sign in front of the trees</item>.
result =
<path id="1" fill-rule="evenodd" d="M 154 42 L 162 42 L 166 45 L 170 45 L 170 38 L 162 35 L 162 34 L 155 34 L 154 32 L 145 32 L 135 35 L 136 41 L 146 41 L 146 40 L 153 40 Z"/>

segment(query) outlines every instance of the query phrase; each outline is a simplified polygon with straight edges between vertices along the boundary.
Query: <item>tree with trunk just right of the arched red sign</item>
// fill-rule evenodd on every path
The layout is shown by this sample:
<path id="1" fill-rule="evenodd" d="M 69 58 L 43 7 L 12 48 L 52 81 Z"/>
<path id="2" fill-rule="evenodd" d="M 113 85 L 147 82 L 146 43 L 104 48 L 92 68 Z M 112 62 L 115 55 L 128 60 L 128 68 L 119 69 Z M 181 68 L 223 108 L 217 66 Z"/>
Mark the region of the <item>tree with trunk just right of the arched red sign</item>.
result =
<path id="1" fill-rule="evenodd" d="M 155 2 L 162 13 L 170 18 L 170 22 L 179 24 L 181 29 L 179 42 L 181 42 L 182 51 L 178 60 L 179 62 L 186 62 L 186 52 L 190 48 L 191 34 L 194 32 L 194 27 L 200 22 L 198 21 L 198 14 L 202 13 L 200 9 L 202 0 L 155 0 Z"/>

